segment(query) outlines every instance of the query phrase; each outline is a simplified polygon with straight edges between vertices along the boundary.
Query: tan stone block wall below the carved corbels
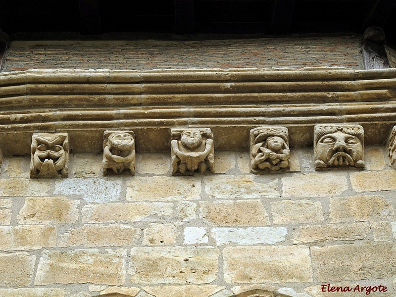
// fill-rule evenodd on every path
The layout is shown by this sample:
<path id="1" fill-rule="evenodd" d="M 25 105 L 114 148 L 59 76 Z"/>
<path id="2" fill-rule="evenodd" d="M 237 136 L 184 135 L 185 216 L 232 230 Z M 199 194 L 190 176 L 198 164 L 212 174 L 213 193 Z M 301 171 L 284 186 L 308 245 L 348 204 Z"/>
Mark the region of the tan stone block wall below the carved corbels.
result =
<path id="1" fill-rule="evenodd" d="M 170 153 L 138 152 L 133 177 L 72 153 L 66 179 L 4 157 L 0 296 L 395 296 L 385 148 L 366 146 L 363 171 L 317 172 L 312 148 L 291 151 L 294 173 L 253 175 L 247 151 L 215 151 L 215 173 L 190 177 L 171 176 Z"/>

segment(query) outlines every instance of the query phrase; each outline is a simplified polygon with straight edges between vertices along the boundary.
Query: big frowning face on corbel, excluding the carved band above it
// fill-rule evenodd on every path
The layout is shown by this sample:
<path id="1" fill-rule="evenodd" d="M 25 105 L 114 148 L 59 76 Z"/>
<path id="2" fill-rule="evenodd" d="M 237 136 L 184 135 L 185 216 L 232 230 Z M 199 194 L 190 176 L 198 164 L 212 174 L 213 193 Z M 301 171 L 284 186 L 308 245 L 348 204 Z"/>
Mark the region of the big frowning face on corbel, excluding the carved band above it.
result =
<path id="1" fill-rule="evenodd" d="M 316 144 L 316 158 L 329 167 L 362 167 L 360 164 L 363 159 L 363 146 L 356 136 L 337 131 L 319 139 Z M 358 161 L 361 162 L 357 163 Z"/>

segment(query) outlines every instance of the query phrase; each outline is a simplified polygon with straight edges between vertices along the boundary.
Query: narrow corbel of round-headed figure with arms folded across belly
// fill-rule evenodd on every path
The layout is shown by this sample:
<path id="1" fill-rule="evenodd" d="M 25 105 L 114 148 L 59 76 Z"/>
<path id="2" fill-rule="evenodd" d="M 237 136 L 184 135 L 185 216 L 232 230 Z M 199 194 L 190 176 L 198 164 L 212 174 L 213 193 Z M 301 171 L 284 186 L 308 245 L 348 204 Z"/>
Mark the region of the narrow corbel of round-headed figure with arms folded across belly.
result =
<path id="1" fill-rule="evenodd" d="M 135 175 L 135 134 L 132 131 L 104 131 L 103 175 L 107 169 L 120 174 L 129 170 Z"/>

